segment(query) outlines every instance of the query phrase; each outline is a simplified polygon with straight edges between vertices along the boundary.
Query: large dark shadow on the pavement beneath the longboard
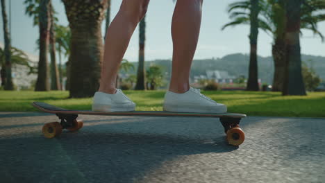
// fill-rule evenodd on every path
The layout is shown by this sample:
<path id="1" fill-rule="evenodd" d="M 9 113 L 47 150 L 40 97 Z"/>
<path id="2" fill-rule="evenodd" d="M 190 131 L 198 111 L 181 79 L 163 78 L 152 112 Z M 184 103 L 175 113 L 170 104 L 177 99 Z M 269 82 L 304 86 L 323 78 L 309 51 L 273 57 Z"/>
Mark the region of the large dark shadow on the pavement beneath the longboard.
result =
<path id="1" fill-rule="evenodd" d="M 200 122 L 128 119 L 135 118 L 91 120 L 85 123 L 87 130 L 63 132 L 57 139 L 44 139 L 39 131 L 0 139 L 1 182 L 134 182 L 167 161 L 238 148 L 226 144 L 221 128 L 208 130 L 219 130 L 213 136 L 196 138 L 192 133 Z M 181 126 L 184 131 L 178 134 L 174 128 Z"/>

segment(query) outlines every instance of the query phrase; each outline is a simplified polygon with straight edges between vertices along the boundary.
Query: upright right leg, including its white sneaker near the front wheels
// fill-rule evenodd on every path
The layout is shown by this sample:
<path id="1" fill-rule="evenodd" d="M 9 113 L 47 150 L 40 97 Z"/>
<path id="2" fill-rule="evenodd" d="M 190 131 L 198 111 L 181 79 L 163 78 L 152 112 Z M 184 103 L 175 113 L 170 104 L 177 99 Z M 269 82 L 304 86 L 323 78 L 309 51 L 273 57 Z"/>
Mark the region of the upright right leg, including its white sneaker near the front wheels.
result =
<path id="1" fill-rule="evenodd" d="M 172 20 L 173 65 L 169 91 L 163 109 L 169 112 L 224 113 L 226 105 L 216 103 L 190 87 L 190 67 L 197 48 L 203 0 L 178 0 Z"/>

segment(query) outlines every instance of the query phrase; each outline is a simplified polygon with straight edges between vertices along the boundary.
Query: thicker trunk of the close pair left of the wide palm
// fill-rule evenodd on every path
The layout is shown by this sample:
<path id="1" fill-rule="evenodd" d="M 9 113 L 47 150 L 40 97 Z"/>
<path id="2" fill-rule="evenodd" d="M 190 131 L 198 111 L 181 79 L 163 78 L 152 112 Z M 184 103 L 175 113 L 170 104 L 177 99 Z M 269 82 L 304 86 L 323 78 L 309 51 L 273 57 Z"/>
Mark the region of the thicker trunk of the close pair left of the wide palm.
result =
<path id="1" fill-rule="evenodd" d="M 49 91 L 49 74 L 47 52 L 49 46 L 49 4 L 50 0 L 40 1 L 39 25 L 40 25 L 40 58 L 38 61 L 38 79 L 35 91 Z"/>

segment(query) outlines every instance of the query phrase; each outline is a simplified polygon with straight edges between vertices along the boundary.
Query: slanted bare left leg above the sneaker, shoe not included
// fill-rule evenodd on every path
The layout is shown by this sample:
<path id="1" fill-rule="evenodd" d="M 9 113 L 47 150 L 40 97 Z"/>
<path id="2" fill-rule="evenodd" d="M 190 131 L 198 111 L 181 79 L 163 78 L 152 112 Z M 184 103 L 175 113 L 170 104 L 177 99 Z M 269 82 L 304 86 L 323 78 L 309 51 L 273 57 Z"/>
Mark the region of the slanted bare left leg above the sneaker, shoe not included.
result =
<path id="1" fill-rule="evenodd" d="M 107 30 L 99 92 L 115 94 L 119 64 L 121 64 L 135 27 L 147 12 L 149 1 L 122 1 L 119 12 Z"/>

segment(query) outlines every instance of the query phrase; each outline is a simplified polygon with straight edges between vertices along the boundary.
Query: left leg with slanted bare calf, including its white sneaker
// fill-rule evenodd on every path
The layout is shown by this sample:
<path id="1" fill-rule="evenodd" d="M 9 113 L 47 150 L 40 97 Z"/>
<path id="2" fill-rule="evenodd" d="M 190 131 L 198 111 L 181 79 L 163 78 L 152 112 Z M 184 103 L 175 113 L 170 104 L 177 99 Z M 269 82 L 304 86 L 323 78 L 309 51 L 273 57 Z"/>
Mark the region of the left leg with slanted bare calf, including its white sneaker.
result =
<path id="1" fill-rule="evenodd" d="M 135 103 L 115 88 L 119 65 L 124 57 L 131 36 L 147 12 L 150 0 L 123 0 L 116 17 L 108 27 L 105 40 L 101 83 L 94 94 L 94 111 L 133 111 Z"/>

